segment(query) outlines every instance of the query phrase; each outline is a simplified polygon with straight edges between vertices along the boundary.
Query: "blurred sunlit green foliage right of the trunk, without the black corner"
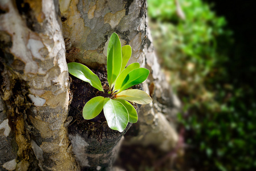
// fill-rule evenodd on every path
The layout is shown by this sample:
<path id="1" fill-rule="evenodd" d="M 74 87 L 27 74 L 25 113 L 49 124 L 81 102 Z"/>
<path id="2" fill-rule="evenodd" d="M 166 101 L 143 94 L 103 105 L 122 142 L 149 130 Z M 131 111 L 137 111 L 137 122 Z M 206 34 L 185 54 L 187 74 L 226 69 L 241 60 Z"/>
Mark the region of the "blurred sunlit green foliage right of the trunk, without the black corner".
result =
<path id="1" fill-rule="evenodd" d="M 239 70 L 242 59 L 230 58 L 234 40 L 224 17 L 201 0 L 179 2 L 185 19 L 174 1 L 148 0 L 148 14 L 157 54 L 184 105 L 178 119 L 192 147 L 186 161 L 196 170 L 255 169 L 256 85 L 237 79 L 254 79 L 255 67 Z"/>

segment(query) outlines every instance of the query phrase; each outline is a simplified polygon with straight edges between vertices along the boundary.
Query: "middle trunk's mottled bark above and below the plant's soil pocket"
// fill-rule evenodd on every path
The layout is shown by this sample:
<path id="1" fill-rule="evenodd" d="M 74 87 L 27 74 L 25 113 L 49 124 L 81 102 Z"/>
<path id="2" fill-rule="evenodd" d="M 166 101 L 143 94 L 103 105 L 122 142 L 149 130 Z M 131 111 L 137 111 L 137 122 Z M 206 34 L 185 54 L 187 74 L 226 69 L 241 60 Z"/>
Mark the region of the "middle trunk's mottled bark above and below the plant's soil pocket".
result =
<path id="1" fill-rule="evenodd" d="M 129 44 L 132 47 L 129 63 L 139 62 L 143 66 L 145 9 L 145 1 L 60 1 L 67 61 L 83 63 L 91 68 L 105 65 L 108 40 L 116 32 L 122 46 Z M 70 115 L 74 116 L 72 112 Z M 75 115 L 80 116 L 80 111 L 75 112 Z M 84 169 L 111 169 L 120 140 L 129 128 L 119 133 L 109 129 L 101 120 L 103 124 L 97 128 L 100 131 L 97 131 L 92 125 L 98 121 L 96 119 L 87 123 L 91 125 L 90 128 L 78 127 L 77 122 L 69 127 L 73 152 Z"/>

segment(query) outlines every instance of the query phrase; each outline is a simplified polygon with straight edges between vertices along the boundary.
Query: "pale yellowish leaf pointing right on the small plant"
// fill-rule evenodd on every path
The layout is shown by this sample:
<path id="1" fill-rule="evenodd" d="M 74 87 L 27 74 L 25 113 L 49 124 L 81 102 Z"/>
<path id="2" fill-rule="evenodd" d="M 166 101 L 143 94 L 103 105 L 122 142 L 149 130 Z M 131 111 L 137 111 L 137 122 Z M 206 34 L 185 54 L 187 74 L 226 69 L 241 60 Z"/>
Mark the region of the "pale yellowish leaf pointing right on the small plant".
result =
<path id="1" fill-rule="evenodd" d="M 140 89 L 127 89 L 116 95 L 116 99 L 124 99 L 138 104 L 149 104 L 152 102 L 148 93 Z"/>

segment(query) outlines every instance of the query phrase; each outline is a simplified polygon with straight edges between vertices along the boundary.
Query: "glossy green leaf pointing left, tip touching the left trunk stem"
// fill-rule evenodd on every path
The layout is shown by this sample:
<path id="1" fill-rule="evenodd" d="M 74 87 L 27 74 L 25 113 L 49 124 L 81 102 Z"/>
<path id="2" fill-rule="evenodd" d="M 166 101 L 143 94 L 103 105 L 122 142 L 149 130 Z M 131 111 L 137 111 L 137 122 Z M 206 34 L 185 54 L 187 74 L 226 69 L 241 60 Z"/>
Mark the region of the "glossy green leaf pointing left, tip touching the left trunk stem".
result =
<path id="1" fill-rule="evenodd" d="M 74 75 L 84 82 L 90 83 L 92 87 L 99 89 L 99 91 L 104 91 L 100 79 L 87 66 L 76 62 L 68 63 L 67 66 L 68 72 L 70 72 L 71 75 Z"/>

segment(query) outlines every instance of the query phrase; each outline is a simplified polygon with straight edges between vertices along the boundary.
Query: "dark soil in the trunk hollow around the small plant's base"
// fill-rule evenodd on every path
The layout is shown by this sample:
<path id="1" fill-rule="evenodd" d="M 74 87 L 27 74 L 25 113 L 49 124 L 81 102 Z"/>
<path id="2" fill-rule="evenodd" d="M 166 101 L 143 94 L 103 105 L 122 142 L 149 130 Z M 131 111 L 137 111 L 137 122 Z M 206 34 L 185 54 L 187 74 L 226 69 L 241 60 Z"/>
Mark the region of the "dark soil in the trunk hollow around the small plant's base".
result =
<path id="1" fill-rule="evenodd" d="M 96 96 L 111 97 L 111 95 L 107 93 L 109 85 L 107 82 L 107 72 L 105 70 L 105 67 L 101 66 L 98 70 L 92 70 L 92 72 L 94 72 L 99 77 L 104 92 L 101 92 L 96 88 L 92 87 L 89 83 L 83 82 L 82 80 L 70 75 L 72 79 L 72 82 L 70 84 L 70 90 L 73 97 L 70 104 L 70 111 L 68 113 L 68 116 L 72 117 L 72 121 L 70 123 L 71 127 L 69 129 L 76 129 L 76 131 L 87 132 L 88 138 L 90 136 L 94 136 L 94 138 L 99 141 L 104 138 L 111 139 L 111 136 L 120 136 L 120 132 L 114 131 L 108 127 L 103 111 L 101 111 L 100 114 L 94 119 L 85 120 L 83 118 L 83 107 L 87 103 L 87 101 Z M 142 89 L 140 85 L 133 86 L 132 88 Z M 139 107 L 139 105 L 137 104 L 132 105 L 133 107 L 135 107 L 136 110 Z"/>

